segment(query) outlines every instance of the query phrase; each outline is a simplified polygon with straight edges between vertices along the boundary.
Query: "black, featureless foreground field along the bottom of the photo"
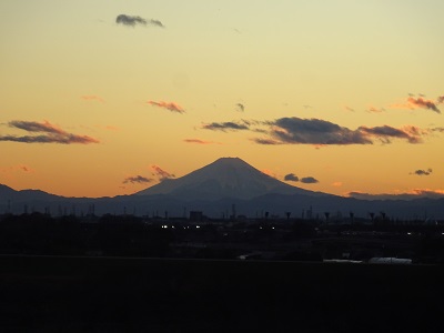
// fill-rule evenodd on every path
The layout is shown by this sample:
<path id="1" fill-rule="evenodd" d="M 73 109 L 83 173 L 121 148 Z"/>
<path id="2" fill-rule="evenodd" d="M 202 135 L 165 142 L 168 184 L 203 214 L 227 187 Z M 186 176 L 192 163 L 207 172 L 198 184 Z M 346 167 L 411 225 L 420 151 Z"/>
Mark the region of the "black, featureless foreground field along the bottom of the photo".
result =
<path id="1" fill-rule="evenodd" d="M 0 256 L 1 332 L 443 332 L 442 266 Z"/>

